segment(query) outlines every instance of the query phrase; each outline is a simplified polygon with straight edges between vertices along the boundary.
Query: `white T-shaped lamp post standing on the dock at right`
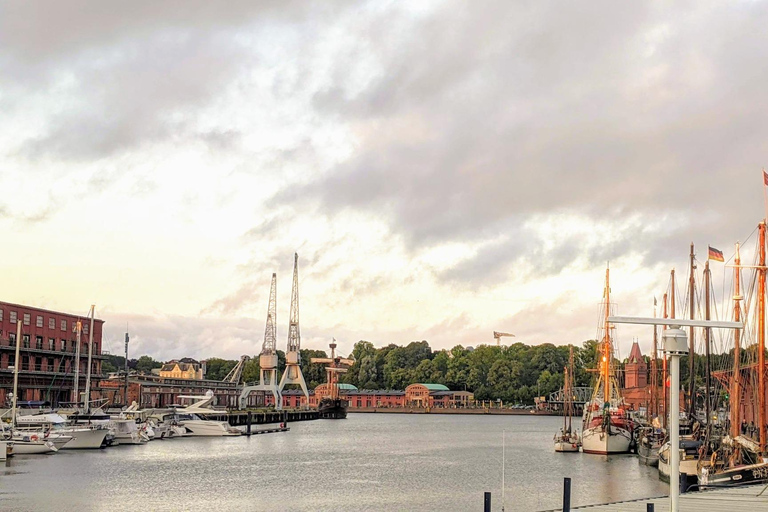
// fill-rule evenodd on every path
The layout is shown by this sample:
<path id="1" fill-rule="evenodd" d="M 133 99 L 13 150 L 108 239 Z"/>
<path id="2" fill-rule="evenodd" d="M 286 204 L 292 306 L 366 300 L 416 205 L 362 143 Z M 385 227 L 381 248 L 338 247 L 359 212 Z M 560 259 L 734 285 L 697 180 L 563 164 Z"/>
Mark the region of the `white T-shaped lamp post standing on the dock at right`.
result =
<path id="1" fill-rule="evenodd" d="M 612 324 L 667 325 L 664 331 L 664 351 L 669 356 L 669 510 L 678 512 L 680 498 L 680 356 L 688 353 L 688 336 L 680 327 L 720 327 L 743 329 L 741 322 L 684 320 L 681 318 L 641 318 L 610 316 Z"/>

